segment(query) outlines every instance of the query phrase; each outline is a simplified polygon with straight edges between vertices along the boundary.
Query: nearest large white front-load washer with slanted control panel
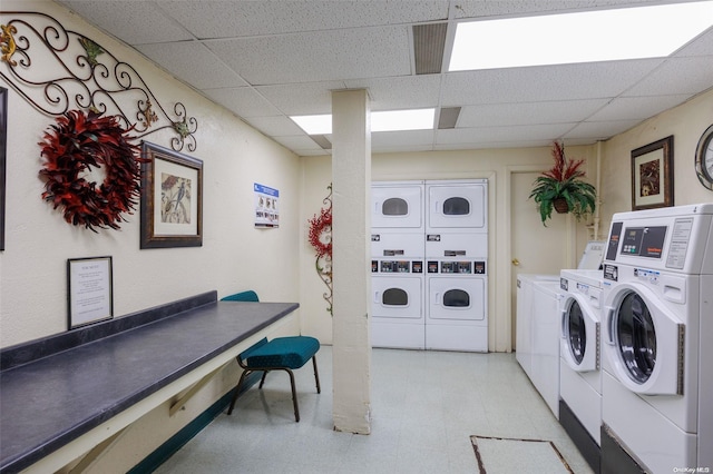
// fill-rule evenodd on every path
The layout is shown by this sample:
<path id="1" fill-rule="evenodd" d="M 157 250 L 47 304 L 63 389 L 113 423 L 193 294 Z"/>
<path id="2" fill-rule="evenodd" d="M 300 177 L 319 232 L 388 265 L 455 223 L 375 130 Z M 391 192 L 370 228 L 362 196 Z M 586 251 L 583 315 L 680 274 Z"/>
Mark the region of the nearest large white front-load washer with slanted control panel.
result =
<path id="1" fill-rule="evenodd" d="M 713 204 L 614 215 L 604 278 L 602 472 L 710 472 Z"/>

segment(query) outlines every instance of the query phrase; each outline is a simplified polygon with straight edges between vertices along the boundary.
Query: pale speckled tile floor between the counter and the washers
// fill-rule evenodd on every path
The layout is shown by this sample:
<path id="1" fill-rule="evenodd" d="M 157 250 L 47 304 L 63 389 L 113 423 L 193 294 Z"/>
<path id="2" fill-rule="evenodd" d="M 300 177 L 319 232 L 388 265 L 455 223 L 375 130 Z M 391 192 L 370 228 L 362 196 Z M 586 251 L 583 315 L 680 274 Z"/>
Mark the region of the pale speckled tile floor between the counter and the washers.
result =
<path id="1" fill-rule="evenodd" d="M 514 354 L 373 349 L 370 435 L 332 429 L 331 347 L 318 364 L 321 395 L 311 364 L 295 372 L 300 423 L 287 375 L 271 373 L 156 472 L 477 473 L 470 436 L 481 435 L 554 441 L 575 473 L 592 473 Z"/>

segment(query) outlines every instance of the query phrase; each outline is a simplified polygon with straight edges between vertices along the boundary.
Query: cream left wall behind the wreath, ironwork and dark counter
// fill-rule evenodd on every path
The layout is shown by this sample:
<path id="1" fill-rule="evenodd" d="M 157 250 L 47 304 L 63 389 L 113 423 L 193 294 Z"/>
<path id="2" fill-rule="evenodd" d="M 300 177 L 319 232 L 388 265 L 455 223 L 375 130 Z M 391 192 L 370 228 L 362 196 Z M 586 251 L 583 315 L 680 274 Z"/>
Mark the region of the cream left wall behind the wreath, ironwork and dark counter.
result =
<path id="1" fill-rule="evenodd" d="M 217 289 L 222 297 L 253 288 L 263 300 L 299 302 L 300 247 L 295 236 L 301 231 L 302 182 L 300 159 L 294 154 L 51 1 L 3 0 L 2 10 L 50 14 L 65 28 L 88 36 L 135 67 L 167 110 L 177 101 L 185 105 L 198 121 L 197 149 L 183 152 L 204 164 L 204 239 L 196 248 L 141 250 L 138 209 L 126 216 L 127 223 L 118 231 L 95 234 L 66 224 L 61 214 L 41 199 L 43 184 L 38 178 L 41 160 L 37 144 L 55 119 L 38 112 L 0 79 L 0 85 L 9 89 L 0 346 L 67 329 L 68 258 L 113 257 L 115 317 L 211 289 Z M 7 67 L 4 62 L 1 66 Z M 42 66 L 42 61 L 32 65 Z M 146 140 L 169 148 L 172 136 L 158 132 Z M 279 229 L 254 228 L 254 182 L 280 190 Z M 295 320 L 281 330 L 294 334 L 297 325 Z M 237 376 L 233 363 L 174 417 L 168 417 L 167 404 L 148 413 L 95 463 L 91 472 L 130 468 L 232 388 Z"/>

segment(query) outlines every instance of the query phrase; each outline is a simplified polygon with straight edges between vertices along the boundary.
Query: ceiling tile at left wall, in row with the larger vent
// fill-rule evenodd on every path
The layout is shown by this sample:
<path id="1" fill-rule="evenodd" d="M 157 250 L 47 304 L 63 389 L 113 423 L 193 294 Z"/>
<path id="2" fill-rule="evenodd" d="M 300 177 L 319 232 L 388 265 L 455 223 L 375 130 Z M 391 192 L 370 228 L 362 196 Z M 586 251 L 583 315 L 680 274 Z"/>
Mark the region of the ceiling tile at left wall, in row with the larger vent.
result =
<path id="1" fill-rule="evenodd" d="M 199 42 L 141 45 L 137 49 L 197 89 L 247 86 L 247 82 Z"/>

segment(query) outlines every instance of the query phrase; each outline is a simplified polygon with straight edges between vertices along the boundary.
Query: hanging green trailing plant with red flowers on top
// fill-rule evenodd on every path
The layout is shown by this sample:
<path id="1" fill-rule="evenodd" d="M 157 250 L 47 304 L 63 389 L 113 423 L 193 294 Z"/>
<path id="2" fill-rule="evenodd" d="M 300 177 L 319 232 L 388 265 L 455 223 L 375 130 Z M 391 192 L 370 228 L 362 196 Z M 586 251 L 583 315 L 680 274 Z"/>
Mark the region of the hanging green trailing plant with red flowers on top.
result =
<path id="1" fill-rule="evenodd" d="M 577 220 L 587 214 L 593 214 L 596 207 L 596 190 L 585 181 L 585 172 L 579 169 L 583 159 L 570 160 L 565 156 L 564 145 L 555 141 L 553 145 L 555 165 L 535 179 L 529 198 L 535 200 L 537 210 L 547 226 L 547 219 L 557 213 L 572 213 Z"/>

